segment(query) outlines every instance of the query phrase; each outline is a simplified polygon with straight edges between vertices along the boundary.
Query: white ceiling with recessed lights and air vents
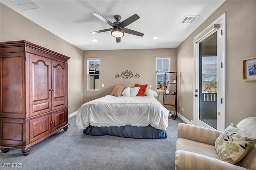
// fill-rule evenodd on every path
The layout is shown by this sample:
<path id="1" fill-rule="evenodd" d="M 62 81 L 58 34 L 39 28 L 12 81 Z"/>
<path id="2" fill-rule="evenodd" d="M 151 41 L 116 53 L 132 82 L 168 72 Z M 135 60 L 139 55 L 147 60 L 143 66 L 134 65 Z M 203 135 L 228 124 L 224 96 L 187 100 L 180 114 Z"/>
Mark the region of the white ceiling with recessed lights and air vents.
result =
<path id="1" fill-rule="evenodd" d="M 176 48 L 225 0 L 1 0 L 14 11 L 32 20 L 82 50 Z M 18 3 L 36 3 L 40 9 L 24 10 Z M 26 4 L 25 3 L 25 4 Z M 23 3 L 24 4 L 24 3 Z M 115 22 L 137 14 L 138 20 L 126 28 L 144 33 L 143 37 L 124 33 L 120 43 L 110 31 L 91 32 L 111 28 L 96 16 L 96 12 Z M 198 16 L 192 23 L 181 24 L 185 16 Z M 153 40 L 153 37 L 158 37 Z M 98 42 L 92 42 L 92 40 Z"/>

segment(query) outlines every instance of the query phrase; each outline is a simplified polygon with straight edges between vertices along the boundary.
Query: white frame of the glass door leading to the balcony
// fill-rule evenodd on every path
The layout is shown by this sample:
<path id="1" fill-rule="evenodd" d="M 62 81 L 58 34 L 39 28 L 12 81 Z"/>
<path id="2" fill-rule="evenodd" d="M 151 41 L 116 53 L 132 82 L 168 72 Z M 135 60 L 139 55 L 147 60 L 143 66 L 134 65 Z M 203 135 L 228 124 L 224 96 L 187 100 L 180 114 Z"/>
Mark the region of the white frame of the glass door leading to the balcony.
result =
<path id="1" fill-rule="evenodd" d="M 226 128 L 226 13 L 212 22 L 198 36 L 208 30 L 213 24 L 220 24 L 220 28 L 217 30 L 217 130 L 224 131 Z M 199 119 L 199 92 L 195 90 L 199 88 L 198 74 L 199 43 L 194 43 L 194 125 L 215 129 Z M 195 97 L 196 95 L 198 97 Z"/>

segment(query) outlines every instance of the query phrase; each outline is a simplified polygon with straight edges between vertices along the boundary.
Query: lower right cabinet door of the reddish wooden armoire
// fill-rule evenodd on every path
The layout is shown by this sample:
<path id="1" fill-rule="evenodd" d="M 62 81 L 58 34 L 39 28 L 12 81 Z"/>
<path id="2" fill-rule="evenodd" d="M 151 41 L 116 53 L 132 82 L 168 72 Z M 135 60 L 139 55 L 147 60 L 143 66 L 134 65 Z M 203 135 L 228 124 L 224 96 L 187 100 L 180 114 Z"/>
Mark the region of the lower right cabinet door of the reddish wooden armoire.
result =
<path id="1" fill-rule="evenodd" d="M 68 114 L 67 108 L 57 111 L 55 113 L 52 113 L 52 122 L 54 122 L 52 123 L 52 131 L 68 123 L 67 114 Z"/>

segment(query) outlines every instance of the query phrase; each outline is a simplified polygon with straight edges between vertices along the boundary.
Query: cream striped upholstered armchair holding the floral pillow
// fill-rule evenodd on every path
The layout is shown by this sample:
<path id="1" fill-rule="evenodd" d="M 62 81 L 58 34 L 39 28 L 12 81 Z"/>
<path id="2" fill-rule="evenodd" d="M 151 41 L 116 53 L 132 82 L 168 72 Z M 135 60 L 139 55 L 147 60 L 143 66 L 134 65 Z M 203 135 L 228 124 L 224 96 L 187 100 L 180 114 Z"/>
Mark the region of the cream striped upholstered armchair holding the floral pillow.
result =
<path id="1" fill-rule="evenodd" d="M 256 117 L 246 118 L 236 127 L 248 136 L 256 138 Z M 218 130 L 180 123 L 176 141 L 176 170 L 256 170 L 256 145 L 253 147 L 255 140 L 248 154 L 236 164 L 232 164 L 221 160 L 215 149 L 215 141 L 220 135 L 222 132 Z"/>

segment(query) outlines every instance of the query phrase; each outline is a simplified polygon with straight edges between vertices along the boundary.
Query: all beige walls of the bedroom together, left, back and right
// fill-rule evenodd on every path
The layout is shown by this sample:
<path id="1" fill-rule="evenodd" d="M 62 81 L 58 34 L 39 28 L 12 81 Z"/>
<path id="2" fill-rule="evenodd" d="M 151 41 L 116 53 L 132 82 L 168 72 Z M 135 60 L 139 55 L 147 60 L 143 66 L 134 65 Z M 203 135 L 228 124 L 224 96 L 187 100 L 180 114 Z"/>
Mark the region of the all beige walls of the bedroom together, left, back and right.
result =
<path id="1" fill-rule="evenodd" d="M 68 60 L 69 113 L 82 103 L 109 94 L 114 85 L 155 84 L 156 56 L 171 56 L 171 71 L 178 69 L 178 111 L 193 120 L 193 44 L 204 28 L 226 12 L 226 126 L 256 116 L 256 81 L 242 81 L 241 60 L 256 56 L 256 1 L 226 1 L 176 49 L 82 51 L 41 28 L 10 8 L 1 6 L 0 41 L 27 40 L 71 57 Z M 86 58 L 100 57 L 100 91 L 86 91 Z M 140 78 L 115 78 L 128 69 Z M 101 87 L 104 84 L 105 87 Z M 162 102 L 162 94 L 158 96 Z"/>

